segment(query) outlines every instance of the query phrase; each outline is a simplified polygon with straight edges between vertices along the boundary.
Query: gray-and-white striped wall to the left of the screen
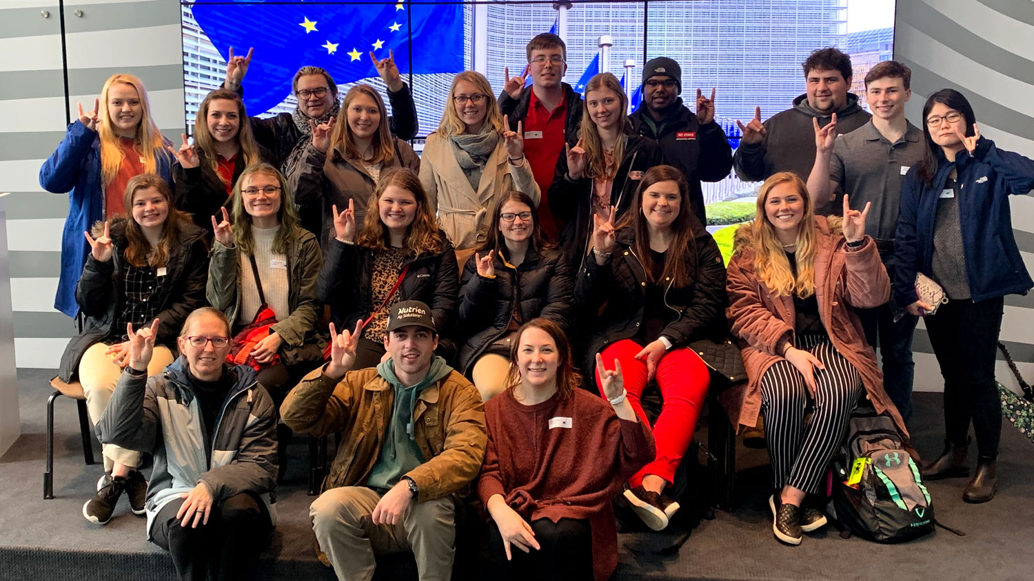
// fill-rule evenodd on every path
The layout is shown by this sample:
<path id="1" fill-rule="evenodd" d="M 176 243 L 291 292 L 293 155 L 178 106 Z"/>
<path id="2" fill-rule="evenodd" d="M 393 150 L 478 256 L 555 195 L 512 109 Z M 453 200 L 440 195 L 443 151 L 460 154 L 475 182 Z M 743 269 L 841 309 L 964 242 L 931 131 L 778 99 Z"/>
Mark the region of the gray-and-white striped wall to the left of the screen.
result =
<path id="1" fill-rule="evenodd" d="M 129 72 L 143 78 L 158 126 L 178 138 L 184 125 L 179 2 L 70 0 L 64 17 L 72 119 L 77 102 L 92 106 L 104 79 Z M 54 310 L 68 198 L 43 192 L 38 182 L 66 126 L 57 0 L 0 2 L 0 192 L 12 192 L 7 244 L 16 359 L 19 367 L 57 367 L 77 331 L 72 319 Z"/>

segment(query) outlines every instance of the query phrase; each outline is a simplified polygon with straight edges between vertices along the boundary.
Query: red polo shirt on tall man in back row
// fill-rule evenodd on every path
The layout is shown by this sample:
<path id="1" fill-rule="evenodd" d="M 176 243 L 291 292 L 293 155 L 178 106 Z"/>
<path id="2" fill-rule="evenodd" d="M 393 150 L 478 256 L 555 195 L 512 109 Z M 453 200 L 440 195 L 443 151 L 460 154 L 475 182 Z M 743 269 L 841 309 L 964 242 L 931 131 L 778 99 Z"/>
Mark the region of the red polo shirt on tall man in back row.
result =
<path id="1" fill-rule="evenodd" d="M 550 112 L 531 91 L 531 100 L 527 105 L 527 117 L 524 118 L 524 156 L 531 165 L 535 182 L 542 191 L 542 201 L 539 202 L 539 223 L 547 238 L 555 240 L 559 235 L 559 225 L 549 212 L 549 200 L 546 192 L 553 183 L 553 172 L 556 171 L 556 159 L 564 152 L 565 133 L 568 119 L 568 96 L 565 93 L 560 104 Z M 529 132 L 541 131 L 541 137 L 528 138 Z"/>

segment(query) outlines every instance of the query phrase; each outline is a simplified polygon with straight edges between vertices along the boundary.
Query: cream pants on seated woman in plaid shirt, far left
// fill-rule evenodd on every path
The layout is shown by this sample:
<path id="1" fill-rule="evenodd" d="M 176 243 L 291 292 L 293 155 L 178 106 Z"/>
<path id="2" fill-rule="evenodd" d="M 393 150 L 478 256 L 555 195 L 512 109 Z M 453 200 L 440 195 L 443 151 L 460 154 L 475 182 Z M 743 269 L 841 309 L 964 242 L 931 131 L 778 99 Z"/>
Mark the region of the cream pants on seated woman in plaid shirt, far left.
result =
<path id="1" fill-rule="evenodd" d="M 108 407 L 108 400 L 115 393 L 115 385 L 122 375 L 122 367 L 115 364 L 109 355 L 104 355 L 108 346 L 103 343 L 91 345 L 83 358 L 79 360 L 79 381 L 83 384 L 83 393 L 86 394 L 86 410 L 89 413 L 90 421 L 94 424 L 100 421 L 100 416 Z M 147 365 L 147 377 L 157 375 L 173 362 L 173 353 L 163 345 L 154 346 L 154 355 Z M 118 446 L 104 445 L 101 447 L 104 457 L 104 471 L 111 472 L 112 465 L 117 463 L 127 466 L 140 464 L 140 452 L 119 448 Z"/>

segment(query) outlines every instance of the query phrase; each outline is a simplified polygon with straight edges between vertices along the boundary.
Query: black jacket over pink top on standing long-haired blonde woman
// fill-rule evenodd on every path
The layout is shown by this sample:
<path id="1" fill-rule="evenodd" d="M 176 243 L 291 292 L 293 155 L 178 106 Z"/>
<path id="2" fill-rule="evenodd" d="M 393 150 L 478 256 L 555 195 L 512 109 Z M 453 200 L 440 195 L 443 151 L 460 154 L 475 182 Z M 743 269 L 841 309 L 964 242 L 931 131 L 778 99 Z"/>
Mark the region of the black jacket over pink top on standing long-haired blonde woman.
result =
<path id="1" fill-rule="evenodd" d="M 575 139 L 568 143 L 573 148 L 577 142 Z M 646 170 L 662 163 L 664 160 L 661 157 L 661 149 L 656 141 L 640 135 L 629 135 L 610 191 L 610 204 L 617 206 L 617 220 L 620 220 L 625 211 L 632 205 L 636 188 L 639 187 L 639 182 Z M 571 180 L 568 175 L 568 157 L 561 154 L 556 160 L 553 185 L 549 187 L 546 199 L 549 200 L 549 211 L 564 222 L 559 246 L 571 260 L 571 264 L 575 268 L 580 268 L 588 249 L 589 235 L 592 233 L 592 180 L 584 176 L 580 180 Z"/>

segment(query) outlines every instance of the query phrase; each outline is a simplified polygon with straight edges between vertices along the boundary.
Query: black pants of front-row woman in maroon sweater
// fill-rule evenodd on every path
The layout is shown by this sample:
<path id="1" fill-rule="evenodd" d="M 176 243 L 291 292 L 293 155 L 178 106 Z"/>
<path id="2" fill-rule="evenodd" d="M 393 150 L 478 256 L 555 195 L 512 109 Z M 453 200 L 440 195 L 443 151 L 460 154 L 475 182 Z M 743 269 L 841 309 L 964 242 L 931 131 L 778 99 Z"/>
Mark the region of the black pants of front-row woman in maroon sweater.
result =
<path id="1" fill-rule="evenodd" d="M 540 518 L 531 522 L 535 540 L 542 547 L 525 553 L 511 545 L 507 560 L 503 536 L 495 521 L 488 522 L 495 581 L 592 581 L 592 532 L 587 520 Z"/>

